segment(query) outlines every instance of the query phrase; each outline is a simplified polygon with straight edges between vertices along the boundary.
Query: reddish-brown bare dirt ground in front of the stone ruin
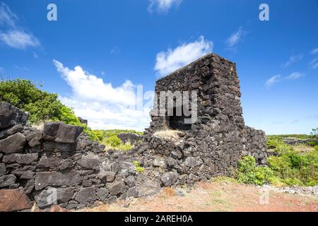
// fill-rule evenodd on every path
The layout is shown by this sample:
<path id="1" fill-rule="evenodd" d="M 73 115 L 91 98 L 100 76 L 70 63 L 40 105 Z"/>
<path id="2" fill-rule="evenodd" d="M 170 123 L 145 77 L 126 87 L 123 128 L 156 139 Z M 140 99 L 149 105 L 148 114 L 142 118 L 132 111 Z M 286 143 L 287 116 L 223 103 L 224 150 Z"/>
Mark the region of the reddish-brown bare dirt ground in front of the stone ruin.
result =
<path id="1" fill-rule="evenodd" d="M 260 204 L 261 201 L 264 204 Z M 266 204 L 266 197 L 268 203 Z M 264 191 L 257 186 L 233 182 L 199 183 L 195 189 L 163 189 L 158 196 L 137 198 L 112 205 L 102 205 L 82 211 L 125 212 L 125 211 L 312 211 L 318 212 L 318 198 L 285 194 L 278 191 Z"/>

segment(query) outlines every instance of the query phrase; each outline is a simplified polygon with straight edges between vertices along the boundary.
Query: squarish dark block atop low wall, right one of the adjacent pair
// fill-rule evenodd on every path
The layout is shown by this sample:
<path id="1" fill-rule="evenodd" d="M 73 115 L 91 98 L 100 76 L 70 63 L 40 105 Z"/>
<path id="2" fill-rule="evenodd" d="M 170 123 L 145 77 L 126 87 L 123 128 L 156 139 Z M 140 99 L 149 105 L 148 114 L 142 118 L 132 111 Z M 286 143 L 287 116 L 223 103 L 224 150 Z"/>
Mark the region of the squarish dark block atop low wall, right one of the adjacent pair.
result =
<path id="1" fill-rule="evenodd" d="M 59 124 L 57 138 L 55 141 L 59 143 L 76 143 L 76 139 L 83 132 L 83 127 Z"/>

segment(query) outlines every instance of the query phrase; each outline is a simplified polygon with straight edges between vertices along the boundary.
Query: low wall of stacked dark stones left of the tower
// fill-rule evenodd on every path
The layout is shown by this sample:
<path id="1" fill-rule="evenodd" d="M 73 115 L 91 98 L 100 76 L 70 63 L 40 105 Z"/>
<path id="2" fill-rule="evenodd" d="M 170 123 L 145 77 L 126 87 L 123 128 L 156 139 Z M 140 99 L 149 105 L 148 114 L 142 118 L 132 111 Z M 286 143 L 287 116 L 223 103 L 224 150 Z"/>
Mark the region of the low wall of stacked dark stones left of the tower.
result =
<path id="1" fill-rule="evenodd" d="M 136 167 L 126 157 L 112 157 L 104 145 L 90 141 L 83 127 L 45 122 L 39 130 L 26 123 L 28 114 L 0 102 L 0 199 L 26 194 L 28 205 L 59 204 L 69 209 L 143 196 L 135 186 Z M 14 197 L 17 197 L 15 195 Z M 8 210 L 12 200 L 1 203 Z M 1 209 L 2 208 L 2 209 Z M 20 208 L 20 209 L 19 209 Z M 9 210 L 22 210 L 15 206 Z"/>

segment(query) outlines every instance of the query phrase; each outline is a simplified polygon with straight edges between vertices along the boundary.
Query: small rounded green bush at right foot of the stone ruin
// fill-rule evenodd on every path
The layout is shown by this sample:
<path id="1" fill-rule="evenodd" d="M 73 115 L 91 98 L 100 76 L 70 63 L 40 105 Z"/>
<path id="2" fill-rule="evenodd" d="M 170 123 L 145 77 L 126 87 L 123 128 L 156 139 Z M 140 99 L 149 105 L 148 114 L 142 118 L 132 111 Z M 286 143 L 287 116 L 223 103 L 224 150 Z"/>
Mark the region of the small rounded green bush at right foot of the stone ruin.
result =
<path id="1" fill-rule="evenodd" d="M 243 157 L 238 163 L 238 182 L 257 185 L 262 185 L 265 182 L 269 182 L 269 177 L 271 177 L 272 174 L 271 169 L 268 167 L 257 167 L 254 157 Z"/>

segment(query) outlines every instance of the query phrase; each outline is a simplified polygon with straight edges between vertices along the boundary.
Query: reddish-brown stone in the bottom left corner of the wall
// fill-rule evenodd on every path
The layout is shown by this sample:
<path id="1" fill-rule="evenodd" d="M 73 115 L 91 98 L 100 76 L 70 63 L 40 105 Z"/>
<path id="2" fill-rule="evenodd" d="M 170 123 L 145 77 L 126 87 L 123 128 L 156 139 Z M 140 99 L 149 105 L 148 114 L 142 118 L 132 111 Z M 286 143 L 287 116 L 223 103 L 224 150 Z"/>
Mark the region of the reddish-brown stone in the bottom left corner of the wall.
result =
<path id="1" fill-rule="evenodd" d="M 26 210 L 32 206 L 30 199 L 22 191 L 0 190 L 0 212 Z"/>

